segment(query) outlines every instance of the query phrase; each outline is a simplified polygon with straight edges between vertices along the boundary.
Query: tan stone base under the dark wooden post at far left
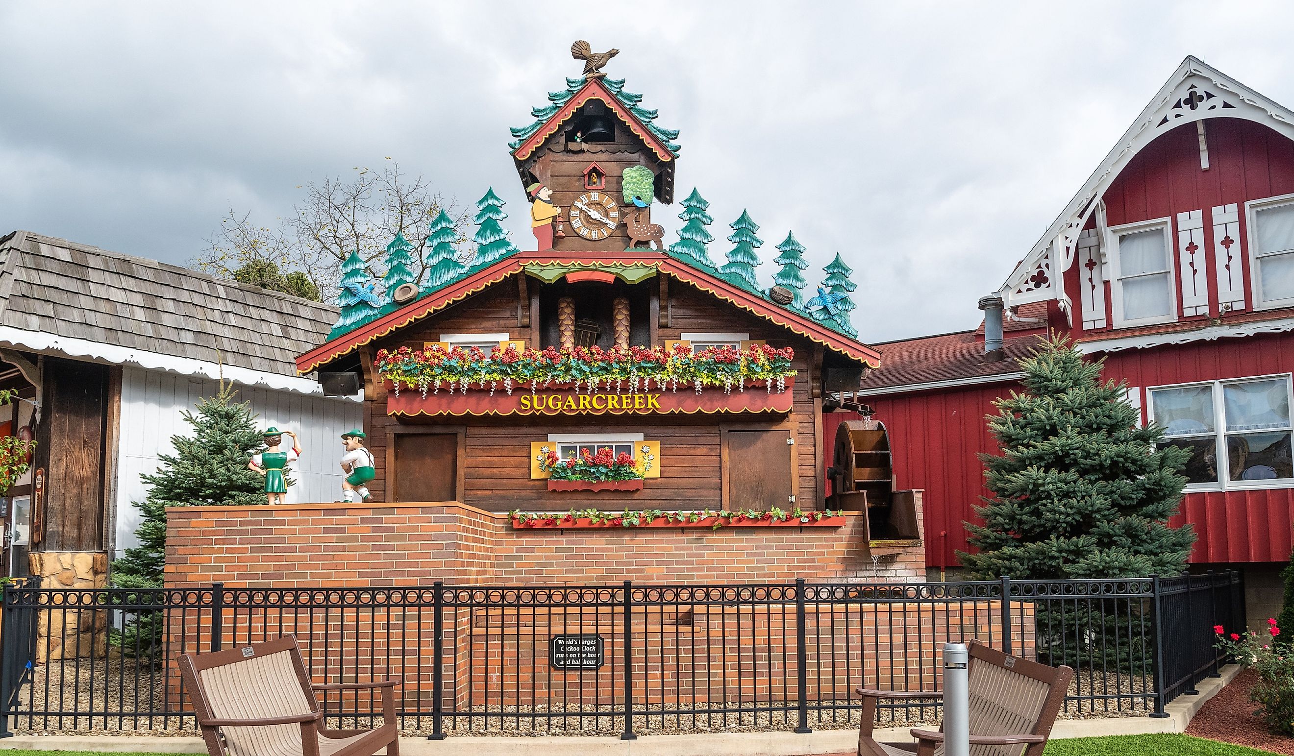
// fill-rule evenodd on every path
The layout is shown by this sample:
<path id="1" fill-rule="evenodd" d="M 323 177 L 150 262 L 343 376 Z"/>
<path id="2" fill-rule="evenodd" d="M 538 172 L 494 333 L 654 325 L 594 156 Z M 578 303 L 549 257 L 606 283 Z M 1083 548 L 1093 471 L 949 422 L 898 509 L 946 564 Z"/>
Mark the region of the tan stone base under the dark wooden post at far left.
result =
<path id="1" fill-rule="evenodd" d="M 106 551 L 34 551 L 27 566 L 40 588 L 107 588 Z M 107 612 L 52 608 L 36 612 L 36 662 L 78 656 L 102 658 L 107 651 Z"/>

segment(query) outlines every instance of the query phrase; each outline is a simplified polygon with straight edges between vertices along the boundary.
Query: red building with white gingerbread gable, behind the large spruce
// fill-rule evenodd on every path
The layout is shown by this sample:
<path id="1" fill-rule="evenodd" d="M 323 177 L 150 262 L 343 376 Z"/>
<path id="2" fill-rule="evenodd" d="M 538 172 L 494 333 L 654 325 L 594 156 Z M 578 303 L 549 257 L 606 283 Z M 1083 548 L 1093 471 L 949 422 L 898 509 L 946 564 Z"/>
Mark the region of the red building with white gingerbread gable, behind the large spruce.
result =
<path id="1" fill-rule="evenodd" d="M 1192 562 L 1242 566 L 1266 603 L 1294 519 L 1294 113 L 1188 57 L 980 306 L 987 339 L 880 344 L 863 381 L 898 485 L 925 489 L 928 564 L 958 564 L 986 493 L 976 453 L 994 450 L 983 416 L 1052 328 L 1192 452 Z"/>

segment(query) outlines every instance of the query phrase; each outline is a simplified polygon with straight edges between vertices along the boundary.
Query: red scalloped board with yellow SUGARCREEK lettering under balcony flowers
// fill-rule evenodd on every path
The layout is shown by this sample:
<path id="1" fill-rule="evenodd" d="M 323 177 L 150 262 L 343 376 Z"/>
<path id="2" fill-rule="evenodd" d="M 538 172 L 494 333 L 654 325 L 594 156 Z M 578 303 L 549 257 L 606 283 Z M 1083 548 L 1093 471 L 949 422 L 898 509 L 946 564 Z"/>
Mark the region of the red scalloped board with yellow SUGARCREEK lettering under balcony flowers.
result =
<path id="1" fill-rule="evenodd" d="M 795 378 L 785 379 L 785 388 L 770 391 L 762 382 L 747 384 L 744 390 L 732 387 L 703 388 L 697 392 L 688 386 L 677 391 L 666 387 L 664 391 L 642 391 L 630 394 L 622 391 L 582 392 L 572 388 L 547 388 L 531 391 L 528 387 L 514 387 L 511 394 L 497 388 L 468 388 L 450 394 L 448 390 L 419 391 L 401 390 L 397 396 L 387 384 L 387 412 L 389 414 L 523 414 L 523 416 L 567 416 L 567 414 L 694 414 L 694 413 L 788 413 L 792 404 Z"/>

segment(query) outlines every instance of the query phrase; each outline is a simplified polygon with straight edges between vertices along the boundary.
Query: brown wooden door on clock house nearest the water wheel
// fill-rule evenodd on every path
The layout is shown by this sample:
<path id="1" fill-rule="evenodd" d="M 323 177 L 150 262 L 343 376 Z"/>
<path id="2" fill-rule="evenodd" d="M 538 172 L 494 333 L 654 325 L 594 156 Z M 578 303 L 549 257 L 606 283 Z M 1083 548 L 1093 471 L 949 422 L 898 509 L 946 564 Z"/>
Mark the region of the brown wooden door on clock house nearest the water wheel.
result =
<path id="1" fill-rule="evenodd" d="M 723 431 L 723 506 L 767 510 L 795 506 L 791 431 Z"/>

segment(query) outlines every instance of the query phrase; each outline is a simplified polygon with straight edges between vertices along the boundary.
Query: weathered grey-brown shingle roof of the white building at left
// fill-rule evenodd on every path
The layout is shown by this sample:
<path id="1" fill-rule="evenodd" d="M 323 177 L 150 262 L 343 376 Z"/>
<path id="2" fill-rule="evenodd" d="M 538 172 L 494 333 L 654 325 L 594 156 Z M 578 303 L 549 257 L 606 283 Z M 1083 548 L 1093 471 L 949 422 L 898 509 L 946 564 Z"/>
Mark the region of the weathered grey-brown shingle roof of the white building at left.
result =
<path id="1" fill-rule="evenodd" d="M 336 308 L 31 232 L 0 238 L 0 326 L 296 375 Z"/>

